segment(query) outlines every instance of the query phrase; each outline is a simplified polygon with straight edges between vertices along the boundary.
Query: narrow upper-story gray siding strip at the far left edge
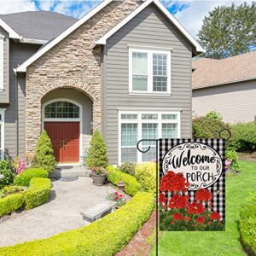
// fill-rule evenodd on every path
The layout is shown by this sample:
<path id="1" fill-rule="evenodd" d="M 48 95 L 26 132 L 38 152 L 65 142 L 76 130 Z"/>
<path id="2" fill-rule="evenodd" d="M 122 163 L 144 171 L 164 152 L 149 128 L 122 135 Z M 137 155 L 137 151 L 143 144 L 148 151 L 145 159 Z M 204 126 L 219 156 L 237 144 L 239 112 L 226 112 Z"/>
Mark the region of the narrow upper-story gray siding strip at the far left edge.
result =
<path id="1" fill-rule="evenodd" d="M 0 27 L 3 39 L 3 90 L 0 90 L 0 103 L 9 103 L 9 34 Z"/>

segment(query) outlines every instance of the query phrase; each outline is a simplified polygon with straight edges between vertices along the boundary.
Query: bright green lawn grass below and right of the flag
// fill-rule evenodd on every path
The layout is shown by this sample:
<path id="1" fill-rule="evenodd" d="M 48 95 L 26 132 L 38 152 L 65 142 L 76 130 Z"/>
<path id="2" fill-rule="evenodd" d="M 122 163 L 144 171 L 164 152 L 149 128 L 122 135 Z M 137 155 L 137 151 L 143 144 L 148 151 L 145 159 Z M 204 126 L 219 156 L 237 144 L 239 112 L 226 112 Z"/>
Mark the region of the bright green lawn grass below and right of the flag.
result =
<path id="1" fill-rule="evenodd" d="M 226 178 L 225 231 L 163 232 L 159 239 L 160 256 L 236 256 L 246 255 L 239 241 L 239 209 L 249 191 L 256 191 L 256 163 L 239 162 L 241 174 Z M 151 251 L 155 255 L 155 247 Z"/>

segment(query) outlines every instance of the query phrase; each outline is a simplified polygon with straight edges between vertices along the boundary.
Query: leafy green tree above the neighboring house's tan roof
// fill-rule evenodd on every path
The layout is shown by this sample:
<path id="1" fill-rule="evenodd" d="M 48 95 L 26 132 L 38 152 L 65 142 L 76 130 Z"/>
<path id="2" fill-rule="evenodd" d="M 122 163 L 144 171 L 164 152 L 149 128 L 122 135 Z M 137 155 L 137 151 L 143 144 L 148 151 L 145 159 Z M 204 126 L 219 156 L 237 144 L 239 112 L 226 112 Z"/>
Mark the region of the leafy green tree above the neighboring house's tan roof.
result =
<path id="1" fill-rule="evenodd" d="M 224 59 L 256 49 L 256 2 L 218 6 L 203 20 L 199 43 L 205 56 Z"/>

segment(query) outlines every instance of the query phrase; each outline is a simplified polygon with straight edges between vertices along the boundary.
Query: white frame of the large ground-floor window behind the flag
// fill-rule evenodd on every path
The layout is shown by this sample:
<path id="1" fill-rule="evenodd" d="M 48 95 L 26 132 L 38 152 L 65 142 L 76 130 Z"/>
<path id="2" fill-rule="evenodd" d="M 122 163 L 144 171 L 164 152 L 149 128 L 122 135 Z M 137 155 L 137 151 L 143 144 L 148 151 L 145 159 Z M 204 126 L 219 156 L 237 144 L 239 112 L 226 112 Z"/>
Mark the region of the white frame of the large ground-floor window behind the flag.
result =
<path id="1" fill-rule="evenodd" d="M 131 113 L 137 114 L 137 119 L 121 119 L 121 114 L 124 113 Z M 142 114 L 158 114 L 158 119 L 142 119 Z M 162 114 L 177 114 L 177 119 L 161 119 Z M 143 138 L 142 134 L 142 124 L 143 123 L 154 123 L 158 124 L 158 138 L 162 137 L 162 124 L 177 124 L 177 138 L 180 138 L 181 133 L 181 111 L 158 111 L 158 110 L 151 110 L 151 111 L 131 111 L 131 110 L 122 110 L 119 111 L 119 165 L 122 164 L 121 162 L 121 125 L 122 124 L 138 124 L 138 131 L 137 131 L 137 142 Z M 143 154 L 137 150 L 137 163 L 143 162 Z"/>

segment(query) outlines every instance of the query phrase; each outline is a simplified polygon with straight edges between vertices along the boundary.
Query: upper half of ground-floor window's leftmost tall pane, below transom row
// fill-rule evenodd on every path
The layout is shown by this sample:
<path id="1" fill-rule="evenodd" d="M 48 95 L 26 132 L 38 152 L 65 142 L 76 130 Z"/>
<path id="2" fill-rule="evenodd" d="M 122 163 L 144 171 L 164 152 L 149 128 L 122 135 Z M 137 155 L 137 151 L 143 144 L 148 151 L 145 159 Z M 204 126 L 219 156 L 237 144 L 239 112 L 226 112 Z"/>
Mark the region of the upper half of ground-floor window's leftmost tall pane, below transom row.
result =
<path id="1" fill-rule="evenodd" d="M 137 124 L 121 125 L 121 146 L 137 146 Z"/>

